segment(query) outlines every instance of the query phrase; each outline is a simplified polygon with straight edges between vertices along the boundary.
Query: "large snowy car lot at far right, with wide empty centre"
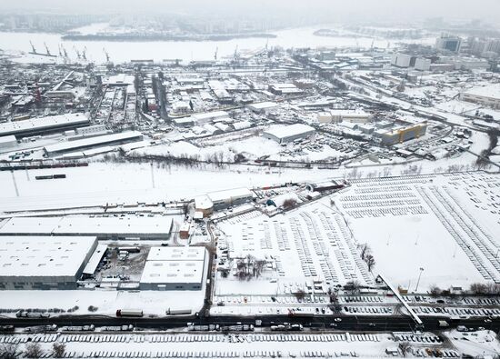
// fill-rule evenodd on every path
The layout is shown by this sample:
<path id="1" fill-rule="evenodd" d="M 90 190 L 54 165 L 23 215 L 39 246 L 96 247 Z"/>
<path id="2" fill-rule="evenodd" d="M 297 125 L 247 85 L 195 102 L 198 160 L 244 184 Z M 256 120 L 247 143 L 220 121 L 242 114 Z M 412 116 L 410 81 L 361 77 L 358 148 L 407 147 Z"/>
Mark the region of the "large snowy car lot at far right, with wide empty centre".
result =
<path id="1" fill-rule="evenodd" d="M 425 292 L 500 280 L 500 178 L 485 173 L 362 180 L 333 196 L 375 273 Z M 420 268 L 423 268 L 421 270 Z"/>

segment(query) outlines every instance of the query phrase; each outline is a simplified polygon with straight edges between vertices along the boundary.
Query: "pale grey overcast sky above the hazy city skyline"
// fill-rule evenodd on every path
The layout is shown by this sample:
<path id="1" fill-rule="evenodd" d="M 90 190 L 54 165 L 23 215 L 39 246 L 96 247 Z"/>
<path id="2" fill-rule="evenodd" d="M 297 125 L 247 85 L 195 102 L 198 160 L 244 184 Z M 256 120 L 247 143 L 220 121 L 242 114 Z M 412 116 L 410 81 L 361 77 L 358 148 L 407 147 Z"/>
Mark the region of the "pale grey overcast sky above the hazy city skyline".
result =
<path id="1" fill-rule="evenodd" d="M 0 0 L 0 11 L 71 14 L 185 13 L 192 15 L 331 15 L 376 22 L 395 22 L 443 16 L 500 22 L 500 0 Z"/>

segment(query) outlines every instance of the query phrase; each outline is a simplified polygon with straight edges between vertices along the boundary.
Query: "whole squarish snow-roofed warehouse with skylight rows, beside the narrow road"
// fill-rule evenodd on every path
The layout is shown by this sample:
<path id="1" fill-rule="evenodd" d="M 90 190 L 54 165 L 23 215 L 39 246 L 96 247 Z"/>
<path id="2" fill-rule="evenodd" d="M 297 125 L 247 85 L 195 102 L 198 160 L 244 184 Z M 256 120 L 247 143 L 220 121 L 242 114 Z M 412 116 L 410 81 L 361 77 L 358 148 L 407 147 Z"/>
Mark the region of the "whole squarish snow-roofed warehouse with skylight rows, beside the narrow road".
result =
<path id="1" fill-rule="evenodd" d="M 152 247 L 147 255 L 141 290 L 200 290 L 206 273 L 205 247 Z"/>

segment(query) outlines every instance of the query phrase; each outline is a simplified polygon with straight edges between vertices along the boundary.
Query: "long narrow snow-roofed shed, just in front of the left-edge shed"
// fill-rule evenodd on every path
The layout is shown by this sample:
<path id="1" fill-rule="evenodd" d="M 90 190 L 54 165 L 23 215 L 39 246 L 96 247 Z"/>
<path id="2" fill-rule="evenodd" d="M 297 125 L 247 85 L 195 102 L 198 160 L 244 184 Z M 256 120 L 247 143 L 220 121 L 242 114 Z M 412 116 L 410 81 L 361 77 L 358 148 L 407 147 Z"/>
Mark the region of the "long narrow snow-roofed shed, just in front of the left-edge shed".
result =
<path id="1" fill-rule="evenodd" d="M 44 147 L 45 154 L 61 155 L 68 152 L 84 151 L 89 148 L 103 145 L 121 145 L 129 142 L 142 141 L 143 135 L 137 131 L 127 131 L 113 135 L 100 135 L 90 138 L 84 138 L 75 141 L 66 141 L 60 144 L 47 145 Z"/>

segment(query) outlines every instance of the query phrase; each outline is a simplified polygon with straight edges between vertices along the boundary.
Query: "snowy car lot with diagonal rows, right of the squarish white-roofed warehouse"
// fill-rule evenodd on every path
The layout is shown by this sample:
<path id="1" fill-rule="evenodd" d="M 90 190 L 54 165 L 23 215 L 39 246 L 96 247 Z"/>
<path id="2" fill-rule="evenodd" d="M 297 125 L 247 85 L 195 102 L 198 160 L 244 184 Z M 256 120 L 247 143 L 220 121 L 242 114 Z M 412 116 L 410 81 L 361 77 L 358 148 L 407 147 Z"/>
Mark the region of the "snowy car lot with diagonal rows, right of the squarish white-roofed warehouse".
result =
<path id="1" fill-rule="evenodd" d="M 358 281 L 372 284 L 373 276 L 359 257 L 356 243 L 344 219 L 332 210 L 327 200 L 306 204 L 287 214 L 267 217 L 244 214 L 218 224 L 224 234 L 221 241 L 229 249 L 229 258 L 250 254 L 265 259 L 261 276 L 239 280 L 235 259 L 227 278 L 217 277 L 215 295 L 294 294 L 308 292 L 306 285 L 329 285 Z M 217 301 L 217 300 L 215 300 Z"/>

